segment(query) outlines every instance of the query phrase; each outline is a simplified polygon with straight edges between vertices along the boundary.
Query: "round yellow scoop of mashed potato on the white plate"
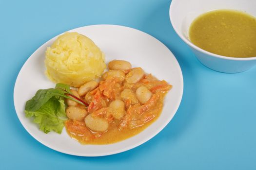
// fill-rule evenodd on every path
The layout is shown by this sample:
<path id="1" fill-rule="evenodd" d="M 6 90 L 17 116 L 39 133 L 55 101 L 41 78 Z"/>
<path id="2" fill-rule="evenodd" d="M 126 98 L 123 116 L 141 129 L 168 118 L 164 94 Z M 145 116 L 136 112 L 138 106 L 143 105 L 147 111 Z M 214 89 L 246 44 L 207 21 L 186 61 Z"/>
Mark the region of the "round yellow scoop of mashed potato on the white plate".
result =
<path id="1" fill-rule="evenodd" d="M 66 32 L 45 52 L 46 75 L 54 83 L 79 87 L 101 76 L 105 56 L 87 36 Z"/>

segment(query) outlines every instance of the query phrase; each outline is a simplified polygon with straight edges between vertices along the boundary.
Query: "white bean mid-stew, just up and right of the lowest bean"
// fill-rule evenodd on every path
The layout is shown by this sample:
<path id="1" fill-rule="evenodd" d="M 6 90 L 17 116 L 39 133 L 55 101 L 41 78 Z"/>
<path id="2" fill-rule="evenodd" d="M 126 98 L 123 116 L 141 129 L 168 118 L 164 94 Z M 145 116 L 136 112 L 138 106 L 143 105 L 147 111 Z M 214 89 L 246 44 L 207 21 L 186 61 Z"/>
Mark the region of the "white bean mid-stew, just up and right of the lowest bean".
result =
<path id="1" fill-rule="evenodd" d="M 124 114 L 125 114 L 125 105 L 124 105 L 123 101 L 115 100 L 115 101 L 110 103 L 109 107 L 112 108 L 112 110 L 113 110 L 112 115 L 115 119 L 119 120 L 124 116 Z"/>

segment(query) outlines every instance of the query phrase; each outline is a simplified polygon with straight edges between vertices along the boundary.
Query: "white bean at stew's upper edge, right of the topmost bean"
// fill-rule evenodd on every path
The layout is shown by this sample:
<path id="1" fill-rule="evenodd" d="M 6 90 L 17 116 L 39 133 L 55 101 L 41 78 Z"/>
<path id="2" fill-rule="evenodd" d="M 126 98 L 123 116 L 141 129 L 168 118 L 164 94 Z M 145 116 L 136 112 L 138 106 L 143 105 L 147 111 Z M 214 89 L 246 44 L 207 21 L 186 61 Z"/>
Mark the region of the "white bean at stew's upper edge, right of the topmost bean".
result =
<path id="1" fill-rule="evenodd" d="M 144 76 L 144 70 L 142 68 L 133 68 L 128 74 L 125 76 L 125 80 L 129 84 L 134 84 L 140 81 Z"/>

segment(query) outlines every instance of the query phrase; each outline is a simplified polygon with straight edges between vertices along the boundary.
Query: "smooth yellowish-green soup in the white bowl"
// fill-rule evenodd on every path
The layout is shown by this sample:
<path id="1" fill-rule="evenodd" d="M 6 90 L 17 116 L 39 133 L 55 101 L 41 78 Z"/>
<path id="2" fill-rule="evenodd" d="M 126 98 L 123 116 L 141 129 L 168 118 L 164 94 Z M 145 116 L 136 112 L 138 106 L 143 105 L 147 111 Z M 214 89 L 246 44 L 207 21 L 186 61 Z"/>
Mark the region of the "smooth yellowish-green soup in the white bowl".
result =
<path id="1" fill-rule="evenodd" d="M 197 47 L 228 57 L 256 56 L 256 17 L 235 10 L 215 10 L 197 17 L 189 29 Z"/>

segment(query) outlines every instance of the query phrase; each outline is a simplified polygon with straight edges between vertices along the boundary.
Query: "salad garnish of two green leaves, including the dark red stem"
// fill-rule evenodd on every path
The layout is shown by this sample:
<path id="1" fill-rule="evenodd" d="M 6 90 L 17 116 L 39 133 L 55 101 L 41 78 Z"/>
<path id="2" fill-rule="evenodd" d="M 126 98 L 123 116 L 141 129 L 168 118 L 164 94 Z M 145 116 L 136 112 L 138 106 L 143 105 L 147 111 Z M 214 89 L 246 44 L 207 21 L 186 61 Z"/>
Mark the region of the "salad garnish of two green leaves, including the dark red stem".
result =
<path id="1" fill-rule="evenodd" d="M 64 98 L 88 106 L 71 93 L 69 85 L 57 84 L 55 88 L 38 90 L 36 95 L 26 102 L 26 117 L 34 117 L 34 122 L 39 124 L 44 133 L 55 131 L 60 134 L 64 120 L 67 119 Z"/>

